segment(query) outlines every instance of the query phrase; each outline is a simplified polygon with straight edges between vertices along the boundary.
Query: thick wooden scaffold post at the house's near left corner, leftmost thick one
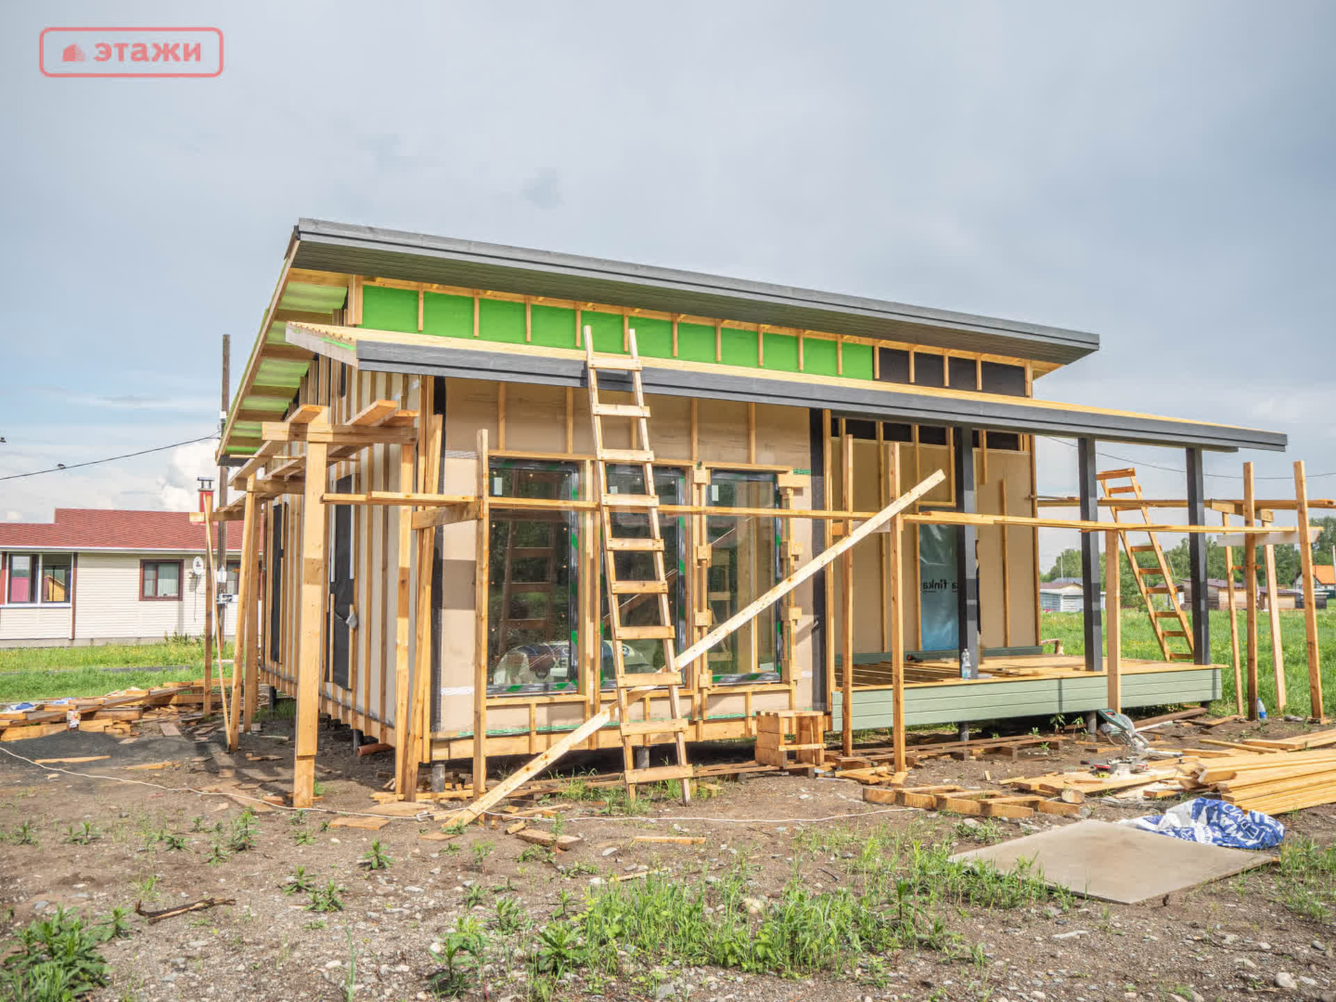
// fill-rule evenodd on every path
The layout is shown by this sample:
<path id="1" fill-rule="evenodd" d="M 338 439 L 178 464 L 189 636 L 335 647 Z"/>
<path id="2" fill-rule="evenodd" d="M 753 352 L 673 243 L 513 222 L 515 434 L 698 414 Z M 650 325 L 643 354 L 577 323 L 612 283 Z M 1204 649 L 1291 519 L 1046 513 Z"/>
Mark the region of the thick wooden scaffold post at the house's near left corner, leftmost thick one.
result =
<path id="1" fill-rule="evenodd" d="M 321 425 L 329 428 L 329 409 L 321 407 Z M 329 446 L 306 444 L 306 489 L 302 498 L 302 599 L 297 648 L 297 755 L 293 763 L 293 807 L 315 800 L 315 744 L 319 724 L 321 663 L 325 657 L 325 494 Z"/>

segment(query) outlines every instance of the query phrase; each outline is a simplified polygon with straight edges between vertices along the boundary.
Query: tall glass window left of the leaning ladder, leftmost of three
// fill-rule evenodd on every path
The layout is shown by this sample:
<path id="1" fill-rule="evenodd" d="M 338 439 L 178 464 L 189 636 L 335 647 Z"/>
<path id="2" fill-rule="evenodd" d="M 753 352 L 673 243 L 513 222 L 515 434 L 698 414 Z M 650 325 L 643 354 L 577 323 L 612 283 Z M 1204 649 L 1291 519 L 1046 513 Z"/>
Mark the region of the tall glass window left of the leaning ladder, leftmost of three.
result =
<path id="1" fill-rule="evenodd" d="M 493 497 L 577 497 L 570 464 L 496 460 Z M 488 693 L 576 692 L 578 545 L 573 512 L 492 509 L 488 565 Z"/>

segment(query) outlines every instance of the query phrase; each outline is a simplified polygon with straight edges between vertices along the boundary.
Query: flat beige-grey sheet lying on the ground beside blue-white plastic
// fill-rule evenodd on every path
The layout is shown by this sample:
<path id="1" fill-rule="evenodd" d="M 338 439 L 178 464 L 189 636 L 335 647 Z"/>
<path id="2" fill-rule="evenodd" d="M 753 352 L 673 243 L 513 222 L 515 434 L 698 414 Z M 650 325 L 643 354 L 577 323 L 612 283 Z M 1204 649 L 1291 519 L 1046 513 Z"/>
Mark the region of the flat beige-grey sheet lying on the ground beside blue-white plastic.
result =
<path id="1" fill-rule="evenodd" d="M 957 852 L 1003 872 L 1033 862 L 1037 876 L 1086 898 L 1136 904 L 1275 863 L 1268 852 L 1204 846 L 1126 824 L 1078 822 L 987 848 Z"/>

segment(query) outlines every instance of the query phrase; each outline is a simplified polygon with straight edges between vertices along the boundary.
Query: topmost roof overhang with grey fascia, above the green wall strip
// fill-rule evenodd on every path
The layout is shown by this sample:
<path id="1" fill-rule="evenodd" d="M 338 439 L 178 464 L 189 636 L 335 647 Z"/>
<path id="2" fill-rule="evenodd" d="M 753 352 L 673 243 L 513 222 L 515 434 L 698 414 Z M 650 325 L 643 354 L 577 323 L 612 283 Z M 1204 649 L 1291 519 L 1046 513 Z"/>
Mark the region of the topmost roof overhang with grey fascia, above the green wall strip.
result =
<path id="1" fill-rule="evenodd" d="M 293 267 L 587 299 L 1065 365 L 1096 334 L 696 271 L 301 219 Z"/>

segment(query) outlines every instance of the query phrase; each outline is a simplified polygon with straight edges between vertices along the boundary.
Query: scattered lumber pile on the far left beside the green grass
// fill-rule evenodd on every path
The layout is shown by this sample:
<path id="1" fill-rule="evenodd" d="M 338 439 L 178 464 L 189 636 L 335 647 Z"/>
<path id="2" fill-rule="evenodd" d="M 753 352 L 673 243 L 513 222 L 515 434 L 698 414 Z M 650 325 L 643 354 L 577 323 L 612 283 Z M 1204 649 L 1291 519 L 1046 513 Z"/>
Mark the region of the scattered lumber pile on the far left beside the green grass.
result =
<path id="1" fill-rule="evenodd" d="M 220 679 L 218 692 L 230 685 Z M 16 704 L 23 709 L 0 709 L 0 741 L 45 737 L 61 731 L 103 732 L 118 736 L 134 733 L 132 724 L 158 723 L 175 727 L 199 719 L 204 701 L 204 681 L 175 681 L 151 689 L 122 689 L 107 696 L 49 699 Z"/>

